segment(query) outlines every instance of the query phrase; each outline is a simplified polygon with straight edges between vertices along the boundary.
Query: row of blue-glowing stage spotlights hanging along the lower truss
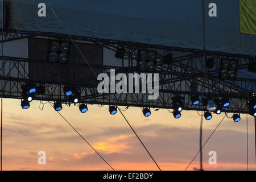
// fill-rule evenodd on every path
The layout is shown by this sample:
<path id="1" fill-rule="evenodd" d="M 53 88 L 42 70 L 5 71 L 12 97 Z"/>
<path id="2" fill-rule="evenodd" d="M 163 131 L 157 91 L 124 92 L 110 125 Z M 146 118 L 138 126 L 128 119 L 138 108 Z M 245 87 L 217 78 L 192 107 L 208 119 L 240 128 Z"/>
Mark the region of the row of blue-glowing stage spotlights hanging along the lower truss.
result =
<path id="1" fill-rule="evenodd" d="M 30 102 L 34 99 L 36 90 L 39 90 L 39 93 L 44 92 L 43 89 L 40 88 L 40 86 L 35 87 L 32 84 L 27 84 L 22 86 L 22 94 L 23 94 L 23 99 L 21 101 L 22 109 L 28 109 L 28 107 L 30 107 Z M 79 103 L 80 101 L 79 88 L 65 86 L 63 91 L 65 96 L 67 97 L 67 100 L 75 104 Z M 191 96 L 190 99 L 193 105 L 200 104 L 199 96 L 193 95 Z M 184 97 L 180 97 L 180 96 L 172 97 L 172 106 L 174 107 L 174 111 L 172 112 L 172 114 L 176 119 L 181 117 L 181 111 L 183 110 L 183 107 L 184 107 L 183 100 L 184 100 Z M 221 100 L 212 99 L 212 98 L 203 98 L 203 105 L 207 108 L 207 111 L 205 111 L 204 113 L 204 117 L 205 119 L 210 120 L 212 119 L 212 112 L 215 114 L 221 114 L 221 112 L 223 111 L 223 108 L 228 107 L 230 105 L 230 101 L 226 97 L 222 98 Z M 56 101 L 53 104 L 53 107 L 56 111 L 60 111 L 61 109 L 63 109 L 60 101 Z M 249 114 L 256 117 L 256 99 L 252 99 L 249 101 L 248 108 L 249 108 Z M 81 111 L 81 113 L 86 113 L 86 111 L 88 111 L 88 106 L 86 104 L 80 104 L 79 110 Z M 109 113 L 112 115 L 116 114 L 117 107 L 114 105 L 110 105 Z M 150 116 L 151 115 L 150 108 L 148 107 L 143 108 L 142 113 L 145 117 Z M 238 122 L 241 119 L 240 114 L 237 114 L 237 113 L 235 113 L 232 118 L 234 119 L 235 122 Z"/>

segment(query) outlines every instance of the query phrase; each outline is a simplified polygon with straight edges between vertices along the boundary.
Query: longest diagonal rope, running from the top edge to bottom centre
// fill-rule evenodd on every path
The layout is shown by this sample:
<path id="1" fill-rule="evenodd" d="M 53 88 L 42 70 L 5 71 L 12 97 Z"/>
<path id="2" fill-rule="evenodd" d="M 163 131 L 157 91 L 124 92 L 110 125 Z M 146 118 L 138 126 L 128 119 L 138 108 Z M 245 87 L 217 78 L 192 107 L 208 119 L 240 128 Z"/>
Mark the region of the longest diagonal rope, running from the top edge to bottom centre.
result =
<path id="1" fill-rule="evenodd" d="M 55 13 L 55 11 L 52 9 L 52 6 L 49 4 L 49 2 L 47 1 L 49 7 L 52 10 L 52 13 L 55 14 L 56 18 L 59 20 L 59 22 L 61 23 L 61 20 L 59 19 L 59 16 L 57 16 L 57 14 Z M 94 75 L 97 78 L 97 74 L 96 72 L 94 72 L 93 68 L 90 66 L 90 63 L 88 62 L 88 60 L 85 58 L 85 56 L 83 55 L 83 53 L 81 52 L 80 48 L 77 46 L 75 40 L 73 40 L 72 36 L 69 35 L 69 38 L 72 40 L 73 44 L 76 46 L 77 50 L 79 51 L 80 55 L 82 56 L 82 58 L 85 60 L 85 62 L 88 64 L 88 66 L 90 67 L 90 69 L 92 70 L 92 72 L 94 73 Z M 109 94 L 109 96 L 111 97 L 112 95 Z M 143 144 L 142 140 L 139 138 L 139 136 L 137 135 L 137 133 L 135 132 L 135 130 L 133 129 L 133 127 L 130 125 L 129 121 L 126 119 L 125 115 L 123 115 L 122 111 L 119 109 L 119 107 L 117 106 L 117 104 L 114 101 L 114 105 L 118 108 L 118 110 L 120 111 L 120 113 L 122 114 L 123 118 L 125 119 L 125 121 L 128 123 L 128 125 L 130 126 L 131 130 L 133 130 L 134 134 L 136 135 L 136 137 L 139 139 L 139 142 L 141 142 L 142 146 L 145 148 L 145 150 L 147 151 L 148 155 L 150 155 L 150 158 L 153 160 L 153 162 L 156 164 L 156 166 L 158 167 L 158 169 L 161 171 L 160 167 L 158 166 L 158 164 L 156 163 L 155 159 L 152 157 L 152 155 L 150 154 L 150 152 L 147 150 L 146 146 Z"/>

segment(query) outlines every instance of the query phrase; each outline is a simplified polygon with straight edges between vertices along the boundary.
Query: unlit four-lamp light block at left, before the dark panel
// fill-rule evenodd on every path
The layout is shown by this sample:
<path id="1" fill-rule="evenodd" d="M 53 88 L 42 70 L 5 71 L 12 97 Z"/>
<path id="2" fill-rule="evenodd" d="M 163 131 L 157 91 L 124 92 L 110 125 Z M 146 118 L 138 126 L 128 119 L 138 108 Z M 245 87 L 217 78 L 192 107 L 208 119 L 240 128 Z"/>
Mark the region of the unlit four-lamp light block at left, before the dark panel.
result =
<path id="1" fill-rule="evenodd" d="M 67 63 L 71 44 L 65 40 L 52 40 L 49 43 L 48 61 L 51 63 Z"/>

